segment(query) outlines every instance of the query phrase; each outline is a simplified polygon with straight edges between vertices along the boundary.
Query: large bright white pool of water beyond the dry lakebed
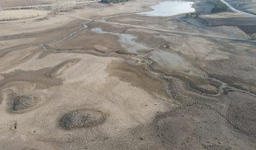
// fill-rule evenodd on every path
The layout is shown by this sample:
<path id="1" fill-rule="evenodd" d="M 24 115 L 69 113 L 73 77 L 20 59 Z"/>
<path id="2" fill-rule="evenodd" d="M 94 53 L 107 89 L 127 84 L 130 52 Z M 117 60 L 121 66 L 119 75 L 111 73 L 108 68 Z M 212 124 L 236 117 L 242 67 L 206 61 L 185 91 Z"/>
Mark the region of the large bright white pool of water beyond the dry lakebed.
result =
<path id="1" fill-rule="evenodd" d="M 156 6 L 152 6 L 152 11 L 140 12 L 140 15 L 148 16 L 172 16 L 187 12 L 194 12 L 195 9 L 192 8 L 194 2 L 191 1 L 163 1 L 158 3 Z"/>

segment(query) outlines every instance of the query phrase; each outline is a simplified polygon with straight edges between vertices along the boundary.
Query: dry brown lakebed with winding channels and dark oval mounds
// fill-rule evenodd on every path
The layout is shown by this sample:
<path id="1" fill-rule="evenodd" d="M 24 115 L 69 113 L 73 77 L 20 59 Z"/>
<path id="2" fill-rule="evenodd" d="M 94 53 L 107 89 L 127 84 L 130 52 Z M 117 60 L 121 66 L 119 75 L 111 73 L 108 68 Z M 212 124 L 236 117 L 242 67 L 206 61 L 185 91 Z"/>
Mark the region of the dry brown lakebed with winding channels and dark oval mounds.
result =
<path id="1" fill-rule="evenodd" d="M 0 22 L 0 149 L 256 149 L 256 44 L 206 22 L 237 14 L 158 2 Z"/>

